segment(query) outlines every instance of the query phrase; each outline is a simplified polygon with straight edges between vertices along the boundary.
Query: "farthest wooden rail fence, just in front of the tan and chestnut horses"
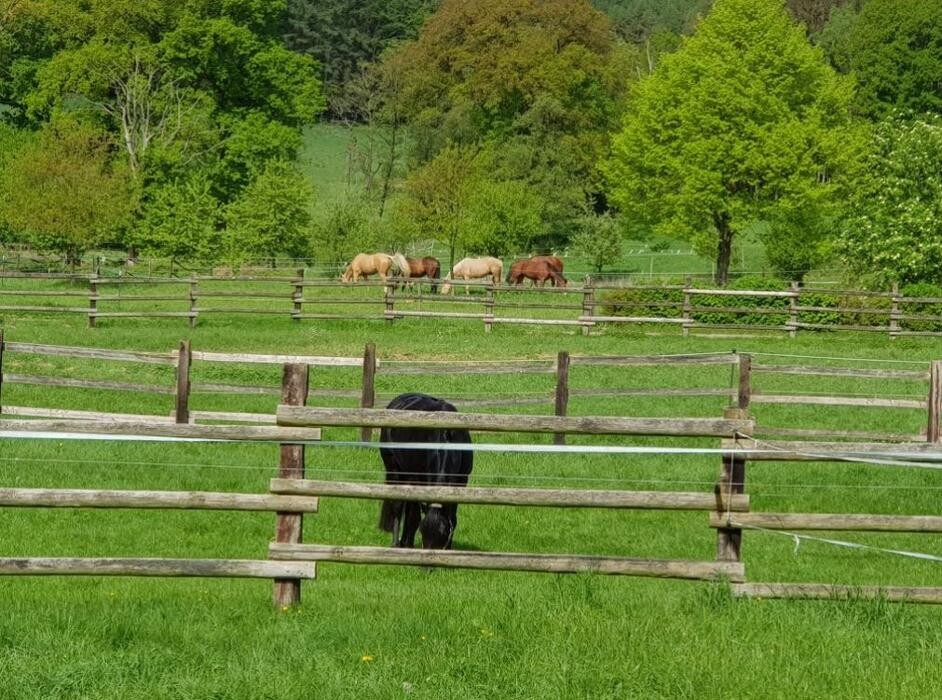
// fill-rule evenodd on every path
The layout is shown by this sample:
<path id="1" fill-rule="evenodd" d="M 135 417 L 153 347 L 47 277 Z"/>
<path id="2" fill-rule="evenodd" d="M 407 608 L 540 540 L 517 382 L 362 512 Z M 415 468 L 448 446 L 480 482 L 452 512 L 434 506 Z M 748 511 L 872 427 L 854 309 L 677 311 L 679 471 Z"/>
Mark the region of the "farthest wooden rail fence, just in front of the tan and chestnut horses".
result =
<path id="1" fill-rule="evenodd" d="M 587 280 L 563 289 L 455 281 L 455 294 L 441 295 L 423 291 L 427 285 L 401 282 L 344 284 L 308 279 L 303 271 L 270 278 L 0 273 L 0 311 L 81 314 L 90 326 L 100 319 L 129 318 L 185 318 L 193 326 L 201 317 L 243 314 L 296 321 L 473 320 L 487 331 L 525 324 L 581 328 L 584 334 L 602 324 L 654 324 L 677 327 L 684 335 L 697 330 L 942 335 L 942 298 L 906 296 L 898 287 L 880 292 L 792 284 L 769 291 L 605 286 Z M 76 306 L 79 302 L 84 305 Z"/>

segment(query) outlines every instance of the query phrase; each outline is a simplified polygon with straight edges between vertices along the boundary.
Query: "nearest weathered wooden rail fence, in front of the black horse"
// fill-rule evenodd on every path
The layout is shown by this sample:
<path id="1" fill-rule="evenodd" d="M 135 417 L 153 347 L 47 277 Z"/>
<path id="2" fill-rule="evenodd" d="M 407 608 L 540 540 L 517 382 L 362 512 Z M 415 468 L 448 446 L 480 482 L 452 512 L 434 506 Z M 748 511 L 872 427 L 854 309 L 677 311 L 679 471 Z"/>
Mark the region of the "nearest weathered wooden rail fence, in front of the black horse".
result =
<path id="1" fill-rule="evenodd" d="M 742 361 L 740 361 L 742 362 Z M 747 363 L 748 364 L 748 363 Z M 942 588 L 898 586 L 840 586 L 818 583 L 747 582 L 743 566 L 744 531 L 847 530 L 881 532 L 942 532 L 942 516 L 855 513 L 754 512 L 745 493 L 749 460 L 843 461 L 896 455 L 911 460 L 942 460 L 942 445 L 898 443 L 820 443 L 757 441 L 755 421 L 749 415 L 751 394 L 740 373 L 737 404 L 722 418 L 626 418 L 611 416 L 526 416 L 476 413 L 390 411 L 374 408 L 312 408 L 308 398 L 308 367 L 284 366 L 276 426 L 159 424 L 115 420 L 31 420 L 0 422 L 0 438 L 39 434 L 105 434 L 173 439 L 264 441 L 281 444 L 277 478 L 271 495 L 173 493 L 140 491 L 75 491 L 68 489 L 0 490 L 0 507 L 93 508 L 206 508 L 274 510 L 277 512 L 274 542 L 268 560 L 5 558 L 0 574 L 96 574 L 149 576 L 251 576 L 275 580 L 274 601 L 292 605 L 300 599 L 300 581 L 313 578 L 317 561 L 359 564 L 408 564 L 473 569 L 546 572 L 591 571 L 678 579 L 726 579 L 740 596 L 841 597 L 885 596 L 890 599 L 942 602 Z M 322 429 L 375 429 L 382 426 L 466 428 L 484 432 L 522 432 L 552 435 L 611 435 L 622 438 L 670 436 L 686 440 L 713 437 L 721 440 L 721 468 L 712 490 L 704 492 L 654 492 L 582 489 L 464 489 L 390 486 L 348 482 L 324 482 L 307 478 L 304 443 L 319 440 Z M 472 446 L 473 449 L 473 446 Z M 532 552 L 403 551 L 379 547 L 303 543 L 303 513 L 313 513 L 315 499 L 402 498 L 435 502 L 487 505 L 527 505 L 564 508 L 618 508 L 646 510 L 701 510 L 716 530 L 713 561 L 652 559 L 627 556 L 595 556 Z M 707 524 L 707 523 L 705 523 Z"/>

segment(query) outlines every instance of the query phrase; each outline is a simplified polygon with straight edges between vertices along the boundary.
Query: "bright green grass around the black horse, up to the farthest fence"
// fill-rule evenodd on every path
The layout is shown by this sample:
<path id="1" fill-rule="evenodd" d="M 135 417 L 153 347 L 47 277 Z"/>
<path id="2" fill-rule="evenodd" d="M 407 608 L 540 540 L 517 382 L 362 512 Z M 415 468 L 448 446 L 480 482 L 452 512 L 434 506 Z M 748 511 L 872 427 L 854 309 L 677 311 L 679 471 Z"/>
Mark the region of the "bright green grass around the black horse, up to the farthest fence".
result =
<path id="1" fill-rule="evenodd" d="M 552 359 L 729 351 L 769 353 L 767 362 L 868 368 L 925 367 L 942 352 L 930 339 L 879 335 L 690 337 L 674 330 L 604 328 L 590 337 L 559 327 L 479 322 L 304 321 L 209 317 L 101 320 L 6 316 L 7 341 L 169 351 L 181 338 L 198 350 L 361 356 L 381 361 Z M 796 355 L 802 359 L 775 357 Z M 757 355 L 758 356 L 758 355 Z M 880 360 L 880 363 L 865 362 Z M 886 361 L 893 361 L 886 362 Z M 907 362 L 921 365 L 903 364 Z M 10 373 L 95 376 L 169 386 L 172 368 L 108 365 L 10 354 Z M 194 381 L 270 384 L 277 367 L 197 364 Z M 575 366 L 572 386 L 730 386 L 716 368 Z M 311 405 L 344 405 L 318 389 L 356 388 L 350 369 L 315 369 Z M 762 388 L 918 396 L 919 383 L 767 378 Z M 791 382 L 791 383 L 789 383 Z M 444 398 L 548 396 L 552 375 L 386 375 L 381 393 L 421 390 Z M 275 397 L 194 396 L 205 410 L 270 411 Z M 6 385 L 4 405 L 161 412 L 172 397 Z M 347 402 L 345 405 L 351 405 Z M 573 398 L 574 415 L 712 416 L 723 397 Z M 481 410 L 549 413 L 551 403 Z M 757 405 L 760 424 L 882 430 L 925 428 L 911 409 Z M 352 431 L 326 431 L 328 440 Z M 545 437 L 476 436 L 478 442 Z M 571 438 L 572 443 L 618 440 Z M 666 439 L 632 444 L 680 444 Z M 716 441 L 691 445 L 715 446 Z M 273 446 L 11 441 L 0 443 L 4 486 L 222 490 L 262 493 L 274 476 Z M 379 480 L 372 450 L 312 447 L 310 476 Z M 480 453 L 472 484 L 711 491 L 716 456 L 585 456 Z M 942 514 L 938 472 L 862 464 L 749 465 L 753 509 Z M 322 499 L 307 516 L 309 542 L 383 545 L 378 504 Z M 598 553 L 712 559 L 706 513 L 614 512 L 462 506 L 456 546 L 484 551 Z M 0 509 L 3 556 L 264 558 L 272 514 Z M 824 533 L 824 536 L 829 536 Z M 942 556 L 931 535 L 837 533 L 882 548 Z M 942 585 L 942 564 L 747 532 L 752 581 Z M 937 697 L 942 610 L 885 601 L 732 600 L 722 583 L 600 575 L 428 571 L 324 564 L 303 584 L 302 605 L 271 606 L 271 583 L 217 579 L 0 578 L 0 697 L 10 698 L 917 698 Z"/>

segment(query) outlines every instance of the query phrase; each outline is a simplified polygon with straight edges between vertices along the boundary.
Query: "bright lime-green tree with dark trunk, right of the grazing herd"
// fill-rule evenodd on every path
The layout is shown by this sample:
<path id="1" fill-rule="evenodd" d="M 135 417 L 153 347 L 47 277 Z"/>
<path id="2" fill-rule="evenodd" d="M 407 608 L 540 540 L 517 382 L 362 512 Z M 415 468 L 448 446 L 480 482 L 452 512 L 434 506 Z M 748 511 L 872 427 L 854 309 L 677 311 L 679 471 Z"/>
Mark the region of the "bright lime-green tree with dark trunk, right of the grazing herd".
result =
<path id="1" fill-rule="evenodd" d="M 858 142 L 851 97 L 781 0 L 717 0 L 635 86 L 606 163 L 611 197 L 712 255 L 725 285 L 737 231 L 840 185 Z"/>

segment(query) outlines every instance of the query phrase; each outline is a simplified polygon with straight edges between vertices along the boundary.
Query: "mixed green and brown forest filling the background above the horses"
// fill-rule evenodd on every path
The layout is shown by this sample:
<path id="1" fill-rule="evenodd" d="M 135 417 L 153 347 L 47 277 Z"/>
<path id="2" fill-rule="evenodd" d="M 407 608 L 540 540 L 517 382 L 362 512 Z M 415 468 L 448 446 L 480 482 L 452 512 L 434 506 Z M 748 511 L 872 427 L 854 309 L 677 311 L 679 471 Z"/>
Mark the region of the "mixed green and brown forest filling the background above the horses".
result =
<path id="1" fill-rule="evenodd" d="M 933 0 L 0 0 L 0 238 L 336 262 L 685 240 L 942 282 Z M 341 196 L 298 163 L 351 126 Z M 355 128 L 354 128 L 355 127 Z"/>

